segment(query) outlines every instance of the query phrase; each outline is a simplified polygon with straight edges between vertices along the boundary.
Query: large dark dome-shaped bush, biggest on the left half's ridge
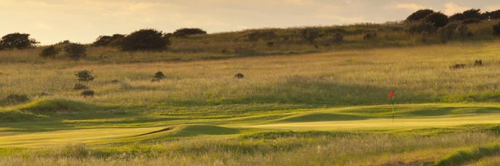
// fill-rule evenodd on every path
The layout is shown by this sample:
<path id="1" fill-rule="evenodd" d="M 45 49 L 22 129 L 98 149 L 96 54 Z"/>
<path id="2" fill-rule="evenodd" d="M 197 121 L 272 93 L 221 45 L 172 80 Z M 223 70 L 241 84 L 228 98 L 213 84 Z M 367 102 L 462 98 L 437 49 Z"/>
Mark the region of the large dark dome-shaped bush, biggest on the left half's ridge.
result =
<path id="1" fill-rule="evenodd" d="M 170 41 L 163 32 L 154 29 L 142 29 L 126 35 L 122 41 L 122 50 L 164 50 Z"/>

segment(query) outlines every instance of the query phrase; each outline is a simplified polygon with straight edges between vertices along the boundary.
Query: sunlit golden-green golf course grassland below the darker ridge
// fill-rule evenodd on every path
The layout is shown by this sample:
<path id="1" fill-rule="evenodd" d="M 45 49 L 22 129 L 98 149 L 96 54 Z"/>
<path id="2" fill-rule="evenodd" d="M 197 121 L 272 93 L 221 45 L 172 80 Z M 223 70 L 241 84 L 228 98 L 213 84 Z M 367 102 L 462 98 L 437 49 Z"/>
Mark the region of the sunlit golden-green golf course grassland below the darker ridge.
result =
<path id="1" fill-rule="evenodd" d="M 18 101 L 0 102 L 0 165 L 495 165 L 498 46 L 134 63 L 1 52 L 0 99 Z M 82 70 L 92 98 L 72 90 Z"/>

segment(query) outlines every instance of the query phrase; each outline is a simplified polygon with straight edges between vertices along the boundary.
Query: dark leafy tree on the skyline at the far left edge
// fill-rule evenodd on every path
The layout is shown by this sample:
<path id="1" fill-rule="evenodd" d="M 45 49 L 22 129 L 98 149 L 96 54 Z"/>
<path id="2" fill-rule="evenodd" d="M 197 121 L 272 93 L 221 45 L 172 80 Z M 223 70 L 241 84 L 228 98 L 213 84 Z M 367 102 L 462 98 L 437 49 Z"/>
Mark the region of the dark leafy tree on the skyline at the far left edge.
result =
<path id="1" fill-rule="evenodd" d="M 29 34 L 26 33 L 11 33 L 5 35 L 0 40 L 0 50 L 8 49 L 12 50 L 14 48 L 24 49 L 24 48 L 32 48 L 37 42 L 35 39 L 29 38 Z"/>

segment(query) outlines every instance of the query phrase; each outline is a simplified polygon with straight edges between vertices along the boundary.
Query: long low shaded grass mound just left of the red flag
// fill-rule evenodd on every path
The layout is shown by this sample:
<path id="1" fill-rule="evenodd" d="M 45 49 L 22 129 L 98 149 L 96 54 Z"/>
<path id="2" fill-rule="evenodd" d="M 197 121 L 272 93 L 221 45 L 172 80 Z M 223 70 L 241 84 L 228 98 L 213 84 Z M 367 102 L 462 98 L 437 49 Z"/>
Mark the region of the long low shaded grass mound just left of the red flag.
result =
<path id="1" fill-rule="evenodd" d="M 345 120 L 365 120 L 364 116 L 355 116 L 341 113 L 302 113 L 276 120 L 275 122 L 325 122 Z"/>

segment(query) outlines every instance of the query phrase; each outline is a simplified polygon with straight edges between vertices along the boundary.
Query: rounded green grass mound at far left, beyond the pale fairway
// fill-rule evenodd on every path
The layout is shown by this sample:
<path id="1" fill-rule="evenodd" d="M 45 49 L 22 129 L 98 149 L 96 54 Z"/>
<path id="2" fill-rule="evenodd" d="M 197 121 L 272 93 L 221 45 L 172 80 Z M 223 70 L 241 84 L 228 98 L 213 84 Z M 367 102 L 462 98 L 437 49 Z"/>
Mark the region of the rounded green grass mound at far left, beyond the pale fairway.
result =
<path id="1" fill-rule="evenodd" d="M 97 107 L 92 104 L 62 99 L 36 100 L 19 107 L 19 110 L 31 111 L 33 113 L 75 112 L 95 109 L 97 109 Z"/>

